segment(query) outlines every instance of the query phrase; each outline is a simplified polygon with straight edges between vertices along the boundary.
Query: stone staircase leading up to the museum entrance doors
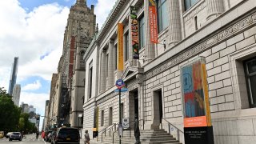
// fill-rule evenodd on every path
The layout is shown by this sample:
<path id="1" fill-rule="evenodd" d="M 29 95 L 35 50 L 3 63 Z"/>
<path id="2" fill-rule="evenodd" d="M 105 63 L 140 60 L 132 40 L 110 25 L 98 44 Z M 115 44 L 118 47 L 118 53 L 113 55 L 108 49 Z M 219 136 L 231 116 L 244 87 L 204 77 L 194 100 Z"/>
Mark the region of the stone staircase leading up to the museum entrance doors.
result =
<path id="1" fill-rule="evenodd" d="M 176 140 L 176 138 L 173 138 L 172 135 L 168 134 L 165 130 L 140 130 L 141 136 L 140 136 L 140 141 L 142 144 L 161 144 L 161 143 L 170 143 L 170 144 L 182 144 Z M 99 144 L 99 143 L 104 143 L 104 144 L 113 144 L 113 136 L 112 132 L 111 133 L 106 133 L 99 135 L 98 137 L 98 142 L 96 138 L 93 140 L 90 140 L 90 144 Z M 114 133 L 114 144 L 119 143 L 119 136 L 118 132 Z M 134 144 L 135 143 L 135 138 L 134 138 L 134 130 L 125 130 L 123 131 L 123 136 L 122 136 L 122 144 Z"/>

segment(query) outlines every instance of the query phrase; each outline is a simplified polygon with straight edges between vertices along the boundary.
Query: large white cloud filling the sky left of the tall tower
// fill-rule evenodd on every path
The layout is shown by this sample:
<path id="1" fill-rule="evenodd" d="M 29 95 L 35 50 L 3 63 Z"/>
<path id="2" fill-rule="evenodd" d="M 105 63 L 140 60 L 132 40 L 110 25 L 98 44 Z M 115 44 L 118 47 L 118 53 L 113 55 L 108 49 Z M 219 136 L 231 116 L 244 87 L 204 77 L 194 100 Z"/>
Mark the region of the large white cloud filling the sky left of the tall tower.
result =
<path id="1" fill-rule="evenodd" d="M 57 71 L 69 8 L 57 3 L 27 13 L 18 0 L 0 5 L 0 85 L 8 89 L 14 57 L 19 57 L 18 79 L 40 76 L 50 80 Z M 40 59 L 43 55 L 45 58 Z"/>

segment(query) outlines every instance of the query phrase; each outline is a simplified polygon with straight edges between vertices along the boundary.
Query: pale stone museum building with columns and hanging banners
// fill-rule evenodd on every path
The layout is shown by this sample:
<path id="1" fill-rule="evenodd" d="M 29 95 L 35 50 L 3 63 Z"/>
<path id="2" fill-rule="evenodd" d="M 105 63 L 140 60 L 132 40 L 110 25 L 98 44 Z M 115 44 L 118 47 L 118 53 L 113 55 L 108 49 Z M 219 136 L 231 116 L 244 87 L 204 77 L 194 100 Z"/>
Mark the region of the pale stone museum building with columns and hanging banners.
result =
<path id="1" fill-rule="evenodd" d="M 112 134 L 118 134 L 119 117 L 133 126 L 138 116 L 142 142 L 150 141 L 143 137 L 146 131 L 166 130 L 185 143 L 181 67 L 205 58 L 214 143 L 255 143 L 255 0 L 155 2 L 152 11 L 154 0 L 118 0 L 96 30 L 83 56 L 82 131 L 89 130 L 92 140 L 98 134 L 98 141 L 103 137 L 103 143 L 112 142 Z M 154 14 L 157 22 L 152 21 Z M 152 41 L 155 23 L 157 42 Z M 119 105 L 114 90 L 120 78 L 128 90 L 121 93 Z M 124 142 L 126 134 L 124 131 Z M 134 134 L 129 142 L 134 143 Z"/>

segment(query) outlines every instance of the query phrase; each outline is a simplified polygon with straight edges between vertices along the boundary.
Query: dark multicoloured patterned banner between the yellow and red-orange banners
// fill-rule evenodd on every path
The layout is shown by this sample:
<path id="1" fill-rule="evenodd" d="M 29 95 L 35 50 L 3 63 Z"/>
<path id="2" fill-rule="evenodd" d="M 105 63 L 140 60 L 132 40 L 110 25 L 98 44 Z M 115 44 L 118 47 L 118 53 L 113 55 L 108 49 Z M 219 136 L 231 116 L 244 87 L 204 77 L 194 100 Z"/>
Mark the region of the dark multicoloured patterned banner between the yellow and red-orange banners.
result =
<path id="1" fill-rule="evenodd" d="M 131 42 L 133 46 L 133 58 L 138 59 L 138 19 L 137 12 L 134 6 L 130 6 L 130 19 L 131 19 Z"/>

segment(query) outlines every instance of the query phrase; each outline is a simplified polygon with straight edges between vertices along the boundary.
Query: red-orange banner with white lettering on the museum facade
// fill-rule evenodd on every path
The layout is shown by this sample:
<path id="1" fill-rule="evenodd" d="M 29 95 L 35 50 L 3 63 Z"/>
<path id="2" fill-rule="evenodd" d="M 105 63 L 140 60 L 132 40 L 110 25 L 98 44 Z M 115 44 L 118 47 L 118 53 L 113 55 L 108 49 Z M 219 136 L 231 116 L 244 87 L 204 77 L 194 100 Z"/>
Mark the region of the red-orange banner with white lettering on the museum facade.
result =
<path id="1" fill-rule="evenodd" d="M 150 42 L 158 43 L 158 17 L 155 0 L 149 0 Z"/>

